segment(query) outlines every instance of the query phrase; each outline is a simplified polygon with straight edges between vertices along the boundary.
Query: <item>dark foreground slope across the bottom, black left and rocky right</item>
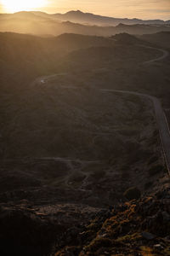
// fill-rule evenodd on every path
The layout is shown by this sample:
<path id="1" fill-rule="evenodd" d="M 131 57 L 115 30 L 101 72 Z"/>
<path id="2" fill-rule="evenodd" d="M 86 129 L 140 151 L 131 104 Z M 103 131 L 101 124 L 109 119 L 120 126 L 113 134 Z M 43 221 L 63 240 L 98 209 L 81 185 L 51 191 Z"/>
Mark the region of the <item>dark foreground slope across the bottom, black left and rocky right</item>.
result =
<path id="1" fill-rule="evenodd" d="M 22 207 L 1 204 L 0 252 L 26 256 L 168 256 L 169 206 L 170 190 L 164 189 L 87 215 L 86 224 L 80 221 L 68 229 L 55 215 L 38 213 L 26 201 Z"/>

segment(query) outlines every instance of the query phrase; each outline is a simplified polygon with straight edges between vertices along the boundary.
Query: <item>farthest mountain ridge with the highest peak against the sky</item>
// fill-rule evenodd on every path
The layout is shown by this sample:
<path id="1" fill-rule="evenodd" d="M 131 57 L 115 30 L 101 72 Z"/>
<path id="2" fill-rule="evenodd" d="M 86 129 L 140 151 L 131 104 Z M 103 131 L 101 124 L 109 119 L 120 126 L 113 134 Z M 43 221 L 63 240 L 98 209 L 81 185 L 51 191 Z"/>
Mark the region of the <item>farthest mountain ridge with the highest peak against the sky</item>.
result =
<path id="1" fill-rule="evenodd" d="M 86 24 L 93 24 L 98 26 L 116 26 L 119 23 L 124 23 L 127 25 L 132 24 L 170 24 L 170 21 L 164 20 L 139 20 L 139 19 L 123 19 L 123 18 L 112 18 L 107 16 L 101 15 L 94 15 L 90 13 L 83 13 L 80 10 L 77 11 L 70 11 L 63 15 L 55 14 L 52 15 L 59 20 L 70 20 L 71 22 L 78 22 L 78 23 L 86 23 Z"/>

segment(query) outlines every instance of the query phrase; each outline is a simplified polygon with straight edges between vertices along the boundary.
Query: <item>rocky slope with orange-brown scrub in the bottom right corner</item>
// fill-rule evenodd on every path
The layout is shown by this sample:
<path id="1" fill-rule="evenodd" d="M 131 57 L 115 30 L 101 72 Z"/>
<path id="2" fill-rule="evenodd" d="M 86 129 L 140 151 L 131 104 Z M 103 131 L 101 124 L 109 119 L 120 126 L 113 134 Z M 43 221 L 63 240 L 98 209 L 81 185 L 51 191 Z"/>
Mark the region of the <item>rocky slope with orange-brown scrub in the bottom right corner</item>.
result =
<path id="1" fill-rule="evenodd" d="M 164 189 L 101 212 L 54 255 L 169 255 L 169 218 L 170 189 Z"/>

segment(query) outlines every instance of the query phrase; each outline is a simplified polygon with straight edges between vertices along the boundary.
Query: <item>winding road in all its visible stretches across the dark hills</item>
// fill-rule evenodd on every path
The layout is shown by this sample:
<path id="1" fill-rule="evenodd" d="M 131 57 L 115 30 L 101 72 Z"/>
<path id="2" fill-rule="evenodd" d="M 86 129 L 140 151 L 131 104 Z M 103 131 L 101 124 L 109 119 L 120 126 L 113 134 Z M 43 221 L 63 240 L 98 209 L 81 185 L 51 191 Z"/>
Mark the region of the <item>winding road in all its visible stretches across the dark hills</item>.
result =
<path id="1" fill-rule="evenodd" d="M 167 58 L 167 55 L 169 55 L 169 52 L 165 49 L 158 49 L 158 48 L 145 46 L 145 45 L 139 45 L 139 46 L 144 47 L 144 48 L 157 49 L 157 50 L 161 51 L 161 53 L 162 53 L 162 55 L 160 57 L 158 57 L 156 59 L 152 59 L 150 61 L 144 61 L 143 64 L 153 63 L 155 61 L 161 61 L 161 60 Z M 50 75 L 50 76 L 46 76 L 46 77 L 37 78 L 32 83 L 32 85 L 45 84 L 46 82 L 48 82 L 49 79 L 53 79 L 57 75 L 58 74 L 54 74 L 54 75 Z M 158 125 L 159 134 L 160 134 L 160 138 L 161 138 L 161 147 L 162 147 L 164 157 L 165 157 L 165 160 L 167 163 L 167 171 L 170 175 L 170 131 L 169 131 L 169 126 L 167 123 L 166 115 L 163 111 L 163 108 L 161 107 L 160 100 L 158 98 L 156 98 L 155 96 L 150 96 L 147 94 L 130 91 L 130 90 L 111 90 L 111 89 L 100 89 L 100 90 L 103 92 L 116 92 L 116 93 L 121 93 L 121 94 L 123 93 L 123 94 L 131 94 L 131 95 L 135 95 L 135 96 L 143 96 L 145 98 L 148 98 L 153 103 L 153 107 L 155 109 L 155 114 L 156 114 L 156 123 Z"/>

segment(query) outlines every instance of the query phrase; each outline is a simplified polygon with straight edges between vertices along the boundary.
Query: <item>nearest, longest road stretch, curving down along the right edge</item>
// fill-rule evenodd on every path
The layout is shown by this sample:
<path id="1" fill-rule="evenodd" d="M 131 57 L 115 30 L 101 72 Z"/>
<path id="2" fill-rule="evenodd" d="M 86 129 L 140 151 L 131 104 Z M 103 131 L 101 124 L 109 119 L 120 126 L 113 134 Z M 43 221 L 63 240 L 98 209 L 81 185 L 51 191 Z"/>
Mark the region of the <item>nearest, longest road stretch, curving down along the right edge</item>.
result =
<path id="1" fill-rule="evenodd" d="M 167 171 L 170 175 L 170 131 L 169 131 L 169 126 L 167 124 L 166 115 L 163 111 L 163 108 L 161 107 L 160 100 L 155 96 L 150 96 L 147 94 L 134 92 L 130 90 L 110 90 L 110 89 L 101 89 L 101 90 L 103 92 L 118 92 L 118 93 L 124 93 L 124 94 L 132 94 L 135 96 L 144 96 L 150 99 L 151 102 L 153 102 L 153 106 L 156 114 L 156 123 L 159 129 L 159 134 L 161 138 L 161 147 L 163 149 L 164 157 L 167 163 Z"/>

